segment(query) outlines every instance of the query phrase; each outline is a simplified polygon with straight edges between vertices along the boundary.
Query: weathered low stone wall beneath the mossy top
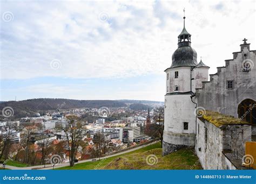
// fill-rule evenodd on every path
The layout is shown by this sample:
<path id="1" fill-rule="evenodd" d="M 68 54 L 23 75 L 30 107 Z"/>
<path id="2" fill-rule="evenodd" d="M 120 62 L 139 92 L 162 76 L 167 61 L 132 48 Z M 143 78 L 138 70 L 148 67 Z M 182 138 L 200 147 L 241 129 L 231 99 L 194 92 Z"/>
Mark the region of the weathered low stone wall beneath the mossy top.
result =
<path id="1" fill-rule="evenodd" d="M 235 169 L 224 150 L 244 155 L 245 141 L 251 140 L 250 125 L 225 125 L 221 128 L 197 119 L 196 154 L 204 169 Z"/>

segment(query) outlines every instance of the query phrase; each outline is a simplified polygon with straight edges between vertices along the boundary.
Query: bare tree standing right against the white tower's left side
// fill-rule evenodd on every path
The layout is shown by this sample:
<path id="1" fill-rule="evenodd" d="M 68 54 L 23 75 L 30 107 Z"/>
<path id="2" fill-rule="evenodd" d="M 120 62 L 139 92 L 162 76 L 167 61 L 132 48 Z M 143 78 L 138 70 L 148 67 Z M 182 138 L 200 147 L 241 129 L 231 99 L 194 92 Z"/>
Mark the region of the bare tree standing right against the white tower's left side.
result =
<path id="1" fill-rule="evenodd" d="M 154 110 L 154 126 L 156 127 L 156 135 L 161 140 L 161 145 L 163 146 L 164 138 L 164 107 L 158 107 Z"/>

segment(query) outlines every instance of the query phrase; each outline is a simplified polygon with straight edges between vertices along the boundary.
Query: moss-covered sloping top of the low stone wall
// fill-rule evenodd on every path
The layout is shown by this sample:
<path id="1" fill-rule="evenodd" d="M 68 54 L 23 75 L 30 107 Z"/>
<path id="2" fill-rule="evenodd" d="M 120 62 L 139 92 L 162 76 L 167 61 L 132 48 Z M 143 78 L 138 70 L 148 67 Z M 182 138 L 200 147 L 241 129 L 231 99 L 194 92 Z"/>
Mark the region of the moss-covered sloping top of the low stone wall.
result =
<path id="1" fill-rule="evenodd" d="M 203 117 L 206 121 L 212 123 L 213 125 L 220 128 L 223 125 L 251 125 L 251 123 L 242 121 L 239 118 L 234 118 L 233 116 L 223 115 L 219 112 L 213 112 L 206 110 L 203 113 Z"/>

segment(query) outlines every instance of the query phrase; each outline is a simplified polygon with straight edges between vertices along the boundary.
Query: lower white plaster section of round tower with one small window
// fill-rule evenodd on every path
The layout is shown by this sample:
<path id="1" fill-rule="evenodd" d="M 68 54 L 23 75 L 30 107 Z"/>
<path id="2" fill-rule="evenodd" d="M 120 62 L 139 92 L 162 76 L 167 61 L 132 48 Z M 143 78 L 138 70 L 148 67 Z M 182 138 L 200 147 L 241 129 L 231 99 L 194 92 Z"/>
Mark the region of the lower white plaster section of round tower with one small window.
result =
<path id="1" fill-rule="evenodd" d="M 194 145 L 195 118 L 195 104 L 191 102 L 190 95 L 166 95 L 164 141 Z M 184 122 L 188 122 L 188 130 L 184 130 Z"/>

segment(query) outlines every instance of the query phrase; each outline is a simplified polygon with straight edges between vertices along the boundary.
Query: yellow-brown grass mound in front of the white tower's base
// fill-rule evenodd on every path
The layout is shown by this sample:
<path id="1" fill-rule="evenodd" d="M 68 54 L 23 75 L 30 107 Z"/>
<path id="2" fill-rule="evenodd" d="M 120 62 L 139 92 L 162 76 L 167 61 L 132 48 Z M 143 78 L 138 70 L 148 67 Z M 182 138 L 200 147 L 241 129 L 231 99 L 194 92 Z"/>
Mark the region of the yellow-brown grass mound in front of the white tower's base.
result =
<path id="1" fill-rule="evenodd" d="M 118 157 L 103 169 L 190 169 L 198 160 L 190 149 L 181 149 L 164 157 L 161 153 L 162 149 L 157 148 Z M 201 169 L 200 164 L 193 169 Z"/>

